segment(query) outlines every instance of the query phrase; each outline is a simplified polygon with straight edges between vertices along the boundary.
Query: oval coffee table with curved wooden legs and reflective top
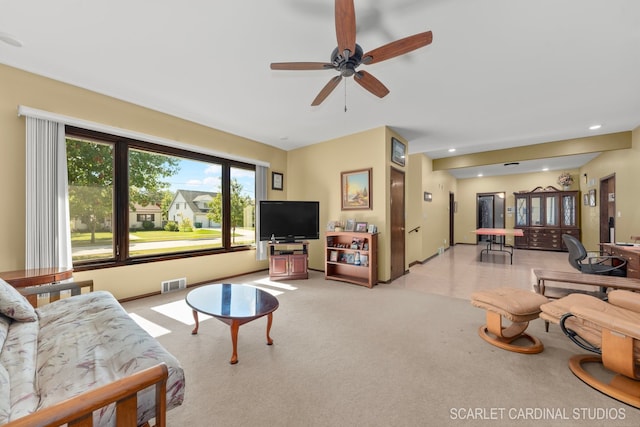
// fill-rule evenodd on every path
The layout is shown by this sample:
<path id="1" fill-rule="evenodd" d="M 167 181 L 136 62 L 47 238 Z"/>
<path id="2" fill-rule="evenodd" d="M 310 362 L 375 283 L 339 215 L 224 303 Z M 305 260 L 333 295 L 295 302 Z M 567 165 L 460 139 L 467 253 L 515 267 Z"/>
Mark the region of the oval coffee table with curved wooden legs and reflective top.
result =
<path id="1" fill-rule="evenodd" d="M 249 285 L 220 283 L 200 286 L 189 292 L 185 298 L 193 309 L 196 326 L 191 332 L 198 333 L 200 322 L 198 312 L 215 317 L 231 327 L 233 354 L 229 363 L 238 363 L 238 329 L 240 325 L 267 316 L 267 345 L 273 344 L 269 336 L 273 312 L 279 306 L 276 297 L 261 289 Z"/>

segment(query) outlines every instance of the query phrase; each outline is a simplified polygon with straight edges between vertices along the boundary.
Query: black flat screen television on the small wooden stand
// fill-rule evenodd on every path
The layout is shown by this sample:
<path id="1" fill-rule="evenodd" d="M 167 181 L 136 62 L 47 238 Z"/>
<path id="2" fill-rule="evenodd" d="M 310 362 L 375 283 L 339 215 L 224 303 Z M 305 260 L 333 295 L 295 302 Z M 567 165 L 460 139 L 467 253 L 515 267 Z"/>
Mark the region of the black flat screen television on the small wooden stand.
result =
<path id="1" fill-rule="evenodd" d="M 294 242 L 320 238 L 320 202 L 260 201 L 260 240 Z"/>

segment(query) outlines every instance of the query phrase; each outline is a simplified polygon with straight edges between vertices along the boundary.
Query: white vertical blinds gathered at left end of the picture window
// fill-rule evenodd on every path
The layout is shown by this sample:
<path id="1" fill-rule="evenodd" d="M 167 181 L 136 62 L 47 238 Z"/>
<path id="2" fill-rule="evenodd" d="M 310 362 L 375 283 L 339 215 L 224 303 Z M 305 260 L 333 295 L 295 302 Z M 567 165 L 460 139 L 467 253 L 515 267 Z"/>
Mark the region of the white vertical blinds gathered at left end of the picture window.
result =
<path id="1" fill-rule="evenodd" d="M 25 268 L 71 268 L 64 124 L 27 116 L 26 126 Z"/>

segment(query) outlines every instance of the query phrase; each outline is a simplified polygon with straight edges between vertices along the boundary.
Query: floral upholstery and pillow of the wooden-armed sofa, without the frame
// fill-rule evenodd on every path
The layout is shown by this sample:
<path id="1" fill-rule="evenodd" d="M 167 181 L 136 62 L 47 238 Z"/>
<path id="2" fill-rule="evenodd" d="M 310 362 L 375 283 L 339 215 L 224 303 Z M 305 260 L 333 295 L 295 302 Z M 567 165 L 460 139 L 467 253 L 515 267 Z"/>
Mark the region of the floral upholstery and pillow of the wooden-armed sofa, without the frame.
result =
<path id="1" fill-rule="evenodd" d="M 90 292 L 39 308 L 0 280 L 0 425 L 165 363 L 166 409 L 182 404 L 178 360 L 138 326 L 108 292 Z M 114 425 L 114 405 L 94 425 Z M 138 394 L 138 425 L 155 415 L 155 393 Z"/>

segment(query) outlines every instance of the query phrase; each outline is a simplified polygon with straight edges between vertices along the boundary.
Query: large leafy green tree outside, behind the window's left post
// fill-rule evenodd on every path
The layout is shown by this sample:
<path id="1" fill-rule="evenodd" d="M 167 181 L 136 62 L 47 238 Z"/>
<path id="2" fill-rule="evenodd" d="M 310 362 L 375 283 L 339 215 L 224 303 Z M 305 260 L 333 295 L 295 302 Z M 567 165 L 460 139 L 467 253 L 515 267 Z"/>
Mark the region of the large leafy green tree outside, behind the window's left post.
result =
<path id="1" fill-rule="evenodd" d="M 91 243 L 95 233 L 113 215 L 113 146 L 67 138 L 69 209 L 72 218 L 87 224 Z M 129 205 L 160 203 L 169 184 L 163 178 L 180 170 L 174 157 L 131 150 L 129 152 Z"/>

